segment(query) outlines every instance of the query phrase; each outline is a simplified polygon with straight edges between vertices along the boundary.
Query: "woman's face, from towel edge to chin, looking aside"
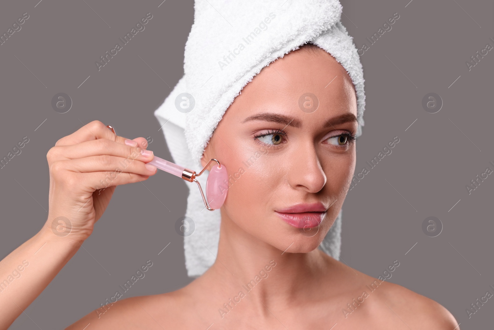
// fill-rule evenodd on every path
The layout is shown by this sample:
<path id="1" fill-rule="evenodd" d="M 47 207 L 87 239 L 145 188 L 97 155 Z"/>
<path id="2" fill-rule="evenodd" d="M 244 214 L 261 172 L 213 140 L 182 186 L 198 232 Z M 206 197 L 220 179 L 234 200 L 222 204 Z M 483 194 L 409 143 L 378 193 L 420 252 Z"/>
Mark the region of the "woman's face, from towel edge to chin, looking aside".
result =
<path id="1" fill-rule="evenodd" d="M 323 49 L 291 51 L 264 67 L 223 115 L 202 159 L 228 170 L 222 222 L 280 250 L 316 249 L 355 170 L 356 115 L 351 79 Z M 327 211 L 287 214 L 305 203 Z"/>

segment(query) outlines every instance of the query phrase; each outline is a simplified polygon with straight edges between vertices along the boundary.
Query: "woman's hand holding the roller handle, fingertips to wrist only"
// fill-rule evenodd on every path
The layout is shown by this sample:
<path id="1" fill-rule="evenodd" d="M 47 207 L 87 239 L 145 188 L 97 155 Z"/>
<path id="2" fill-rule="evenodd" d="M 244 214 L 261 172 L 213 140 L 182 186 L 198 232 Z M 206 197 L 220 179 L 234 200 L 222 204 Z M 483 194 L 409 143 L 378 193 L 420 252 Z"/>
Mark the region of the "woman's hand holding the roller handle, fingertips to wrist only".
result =
<path id="1" fill-rule="evenodd" d="M 156 173 L 144 138 L 116 136 L 95 120 L 63 137 L 46 154 L 50 189 L 45 230 L 85 240 L 118 185 L 143 181 Z M 144 154 L 141 154 L 144 152 Z"/>

